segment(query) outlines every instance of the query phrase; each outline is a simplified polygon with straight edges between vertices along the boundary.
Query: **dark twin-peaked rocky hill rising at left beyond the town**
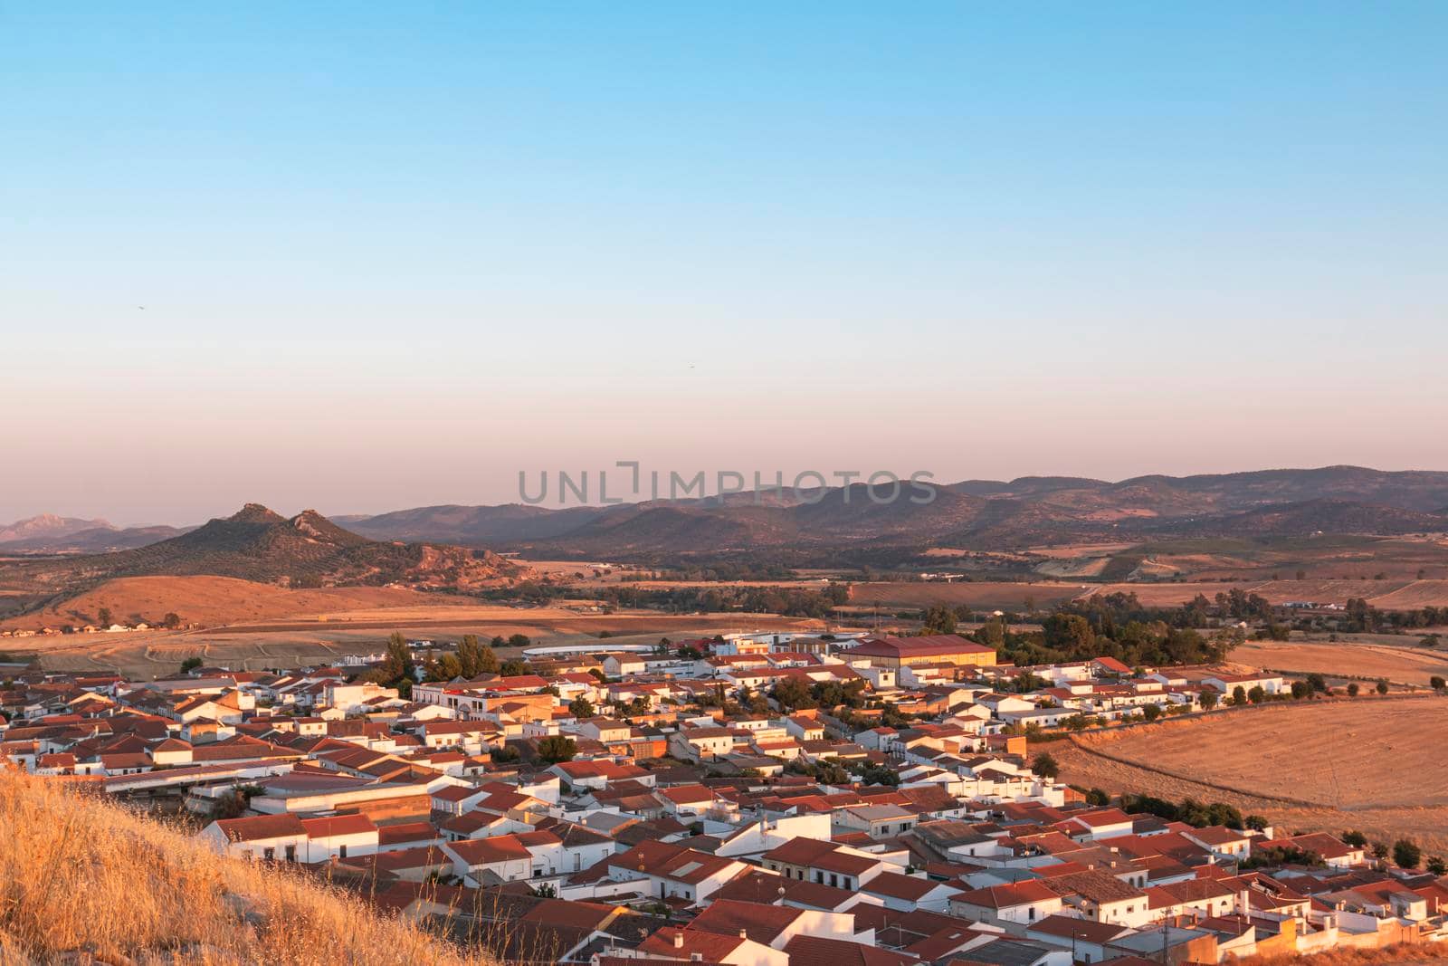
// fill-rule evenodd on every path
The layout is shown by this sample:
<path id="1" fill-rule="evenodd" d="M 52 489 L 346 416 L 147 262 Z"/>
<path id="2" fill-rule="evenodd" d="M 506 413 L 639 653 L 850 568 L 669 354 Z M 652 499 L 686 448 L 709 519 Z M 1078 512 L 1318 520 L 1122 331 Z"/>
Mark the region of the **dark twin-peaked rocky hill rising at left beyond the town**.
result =
<path id="1" fill-rule="evenodd" d="M 285 587 L 473 589 L 517 574 L 488 550 L 371 540 L 314 510 L 287 518 L 259 504 L 159 543 L 113 553 L 0 565 L 32 592 L 68 595 L 122 576 L 232 576 Z"/>

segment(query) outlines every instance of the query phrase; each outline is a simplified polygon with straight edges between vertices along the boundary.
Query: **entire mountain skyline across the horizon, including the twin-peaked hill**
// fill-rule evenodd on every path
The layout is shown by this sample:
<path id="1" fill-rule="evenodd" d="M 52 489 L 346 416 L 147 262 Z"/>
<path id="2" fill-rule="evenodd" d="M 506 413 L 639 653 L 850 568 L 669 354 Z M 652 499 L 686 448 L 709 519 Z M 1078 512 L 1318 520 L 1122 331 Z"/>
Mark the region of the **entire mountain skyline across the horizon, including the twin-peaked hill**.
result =
<path id="1" fill-rule="evenodd" d="M 96 520 L 38 517 L 0 530 L 0 537 L 10 537 L 0 543 L 0 552 L 129 546 L 97 558 L 106 560 L 97 566 L 111 574 L 355 582 L 405 574 L 418 565 L 421 550 L 416 547 L 423 545 L 659 563 L 759 550 L 796 560 L 840 553 L 883 560 L 930 547 L 999 552 L 1092 540 L 1448 530 L 1448 472 L 1360 466 L 1151 475 L 1119 482 L 1079 476 L 969 479 L 937 487 L 930 503 L 914 503 L 909 495 L 905 490 L 902 498 L 877 504 L 856 484 L 769 492 L 757 503 L 754 494 L 744 492 L 608 507 L 437 505 L 333 520 L 314 511 L 287 520 L 248 505 L 190 532 L 148 527 L 148 533 Z M 397 549 L 394 542 L 414 549 Z M 455 552 L 442 556 L 450 560 L 447 566 L 462 563 Z M 491 559 L 497 568 L 497 558 Z M 197 569 L 201 560 L 213 569 Z"/>

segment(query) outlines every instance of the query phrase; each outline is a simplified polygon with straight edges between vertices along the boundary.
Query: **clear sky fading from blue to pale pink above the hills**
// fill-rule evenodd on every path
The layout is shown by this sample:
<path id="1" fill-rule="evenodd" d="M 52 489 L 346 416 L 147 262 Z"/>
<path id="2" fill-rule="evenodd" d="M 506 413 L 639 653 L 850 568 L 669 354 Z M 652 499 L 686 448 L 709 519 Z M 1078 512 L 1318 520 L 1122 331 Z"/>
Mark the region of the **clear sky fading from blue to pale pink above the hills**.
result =
<path id="1" fill-rule="evenodd" d="M 0 523 L 1448 469 L 1448 4 L 12 3 Z"/>

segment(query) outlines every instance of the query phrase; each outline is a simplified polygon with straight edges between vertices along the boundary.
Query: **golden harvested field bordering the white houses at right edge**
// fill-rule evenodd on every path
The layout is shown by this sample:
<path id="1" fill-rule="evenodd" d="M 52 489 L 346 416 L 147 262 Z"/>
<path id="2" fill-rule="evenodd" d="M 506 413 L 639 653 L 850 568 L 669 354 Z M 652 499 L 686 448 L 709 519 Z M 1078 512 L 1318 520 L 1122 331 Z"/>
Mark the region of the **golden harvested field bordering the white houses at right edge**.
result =
<path id="1" fill-rule="evenodd" d="M 1448 853 L 1445 728 L 1448 698 L 1364 697 L 1077 736 L 1050 750 L 1074 785 L 1224 801 L 1287 830 L 1361 828 Z"/>

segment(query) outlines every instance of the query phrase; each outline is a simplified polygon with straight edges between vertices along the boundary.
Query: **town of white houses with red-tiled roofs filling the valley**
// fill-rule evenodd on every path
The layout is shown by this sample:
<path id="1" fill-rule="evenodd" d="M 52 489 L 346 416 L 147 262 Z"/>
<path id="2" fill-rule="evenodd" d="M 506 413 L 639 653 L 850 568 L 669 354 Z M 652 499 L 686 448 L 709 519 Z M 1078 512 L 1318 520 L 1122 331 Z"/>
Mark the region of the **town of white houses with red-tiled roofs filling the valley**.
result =
<path id="1" fill-rule="evenodd" d="M 504 962 L 1134 966 L 1448 940 L 1442 859 L 1409 840 L 1076 788 L 1051 755 L 1316 700 L 1321 678 L 1014 665 L 928 631 L 492 644 L 395 634 L 336 666 L 155 681 L 13 669 L 0 755 Z"/>

